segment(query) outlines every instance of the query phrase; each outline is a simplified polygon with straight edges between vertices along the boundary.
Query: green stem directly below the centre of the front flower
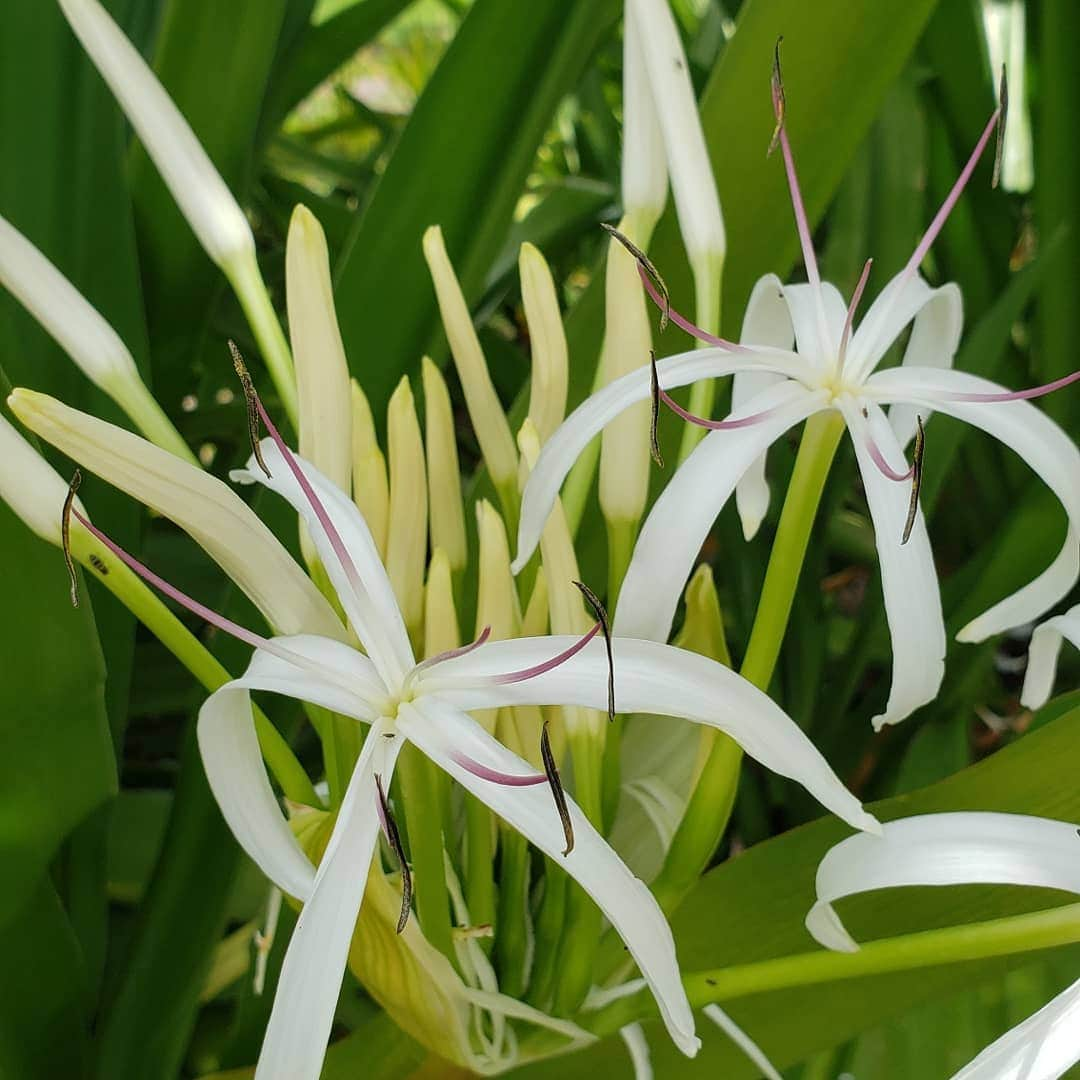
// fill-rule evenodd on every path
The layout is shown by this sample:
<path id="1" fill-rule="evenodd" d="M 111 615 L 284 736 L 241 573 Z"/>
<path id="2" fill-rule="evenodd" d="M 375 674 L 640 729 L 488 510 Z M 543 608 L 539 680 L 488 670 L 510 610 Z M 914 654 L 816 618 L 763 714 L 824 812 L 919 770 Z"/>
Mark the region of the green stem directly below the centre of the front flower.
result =
<path id="1" fill-rule="evenodd" d="M 415 746 L 406 746 L 397 762 L 397 780 L 409 825 L 409 856 L 420 928 L 424 937 L 457 966 L 443 861 L 442 805 L 434 767 Z"/>

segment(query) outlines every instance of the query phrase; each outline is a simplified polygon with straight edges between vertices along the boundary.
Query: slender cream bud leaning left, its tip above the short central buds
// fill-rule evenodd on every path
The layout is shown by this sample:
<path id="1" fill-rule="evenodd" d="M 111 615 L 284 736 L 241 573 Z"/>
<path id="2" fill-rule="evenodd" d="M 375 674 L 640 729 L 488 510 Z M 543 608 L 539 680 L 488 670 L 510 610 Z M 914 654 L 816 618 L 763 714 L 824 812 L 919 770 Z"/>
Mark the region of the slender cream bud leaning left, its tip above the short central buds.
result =
<path id="1" fill-rule="evenodd" d="M 450 353 L 458 378 L 461 379 L 461 389 L 464 391 L 469 416 L 484 461 L 500 499 L 504 500 L 503 509 L 507 509 L 505 500 L 516 507 L 517 454 L 514 450 L 514 437 L 499 395 L 495 392 L 461 286 L 446 254 L 443 230 L 437 225 L 433 225 L 423 234 L 423 255 L 435 285 L 446 339 L 450 343 Z"/>

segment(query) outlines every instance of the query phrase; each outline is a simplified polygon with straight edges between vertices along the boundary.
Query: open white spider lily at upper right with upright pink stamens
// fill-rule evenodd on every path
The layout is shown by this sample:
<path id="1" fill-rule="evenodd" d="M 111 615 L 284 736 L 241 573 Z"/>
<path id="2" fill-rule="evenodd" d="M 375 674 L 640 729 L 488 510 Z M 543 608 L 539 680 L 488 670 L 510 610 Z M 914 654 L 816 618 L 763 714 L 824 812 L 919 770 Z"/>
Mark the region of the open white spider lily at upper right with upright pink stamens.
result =
<path id="1" fill-rule="evenodd" d="M 779 104 L 778 114 L 782 116 Z M 895 724 L 933 700 L 944 674 L 945 627 L 937 575 L 915 497 L 921 440 L 916 443 L 915 464 L 908 467 L 904 456 L 905 445 L 932 411 L 982 428 L 1014 449 L 1051 487 L 1069 517 L 1065 544 L 1053 564 L 963 627 L 959 639 L 978 642 L 1030 622 L 1068 593 L 1080 576 L 1080 451 L 1026 399 L 1057 389 L 1080 373 L 1048 387 L 1012 392 L 951 370 L 960 337 L 960 292 L 954 284 L 932 288 L 918 273 L 999 114 L 1000 109 L 907 265 L 881 291 L 858 328 L 854 311 L 869 264 L 850 305 L 845 305 L 833 285 L 821 281 L 791 146 L 781 125 L 779 139 L 809 282 L 784 285 L 772 274 L 758 281 L 739 345 L 704 335 L 673 312 L 673 322 L 710 341 L 712 348 L 661 361 L 654 377 L 647 368 L 623 376 L 586 400 L 555 432 L 524 492 L 515 571 L 536 548 L 578 455 L 623 409 L 656 392 L 685 418 L 713 430 L 667 483 L 642 528 L 619 594 L 617 634 L 667 639 L 678 597 L 701 545 L 732 491 L 738 491 L 744 531 L 752 536 L 769 500 L 766 450 L 791 428 L 826 409 L 842 416 L 854 444 L 881 566 L 893 670 L 888 704 L 874 718 L 876 728 Z M 643 279 L 658 302 L 666 303 L 644 270 Z M 912 332 L 901 366 L 877 370 L 908 325 Z M 719 375 L 735 376 L 734 407 L 724 420 L 691 417 L 667 395 L 676 387 Z M 889 415 L 886 405 L 892 406 Z M 678 527 L 673 528 L 673 523 Z"/>

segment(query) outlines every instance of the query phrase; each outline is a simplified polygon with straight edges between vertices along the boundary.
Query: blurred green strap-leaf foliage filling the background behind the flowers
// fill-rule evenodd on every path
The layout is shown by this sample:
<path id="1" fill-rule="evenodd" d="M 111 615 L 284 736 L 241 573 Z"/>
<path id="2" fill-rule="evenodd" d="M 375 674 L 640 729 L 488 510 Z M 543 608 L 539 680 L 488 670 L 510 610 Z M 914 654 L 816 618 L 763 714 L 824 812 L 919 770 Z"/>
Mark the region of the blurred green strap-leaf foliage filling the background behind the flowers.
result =
<path id="1" fill-rule="evenodd" d="M 446 359 L 420 252 L 431 224 L 443 227 L 504 403 L 521 395 L 528 373 L 516 276 L 525 240 L 543 251 L 561 283 L 571 397 L 588 391 L 603 334 L 598 222 L 619 217 L 618 0 L 110 0 L 107 6 L 248 207 L 281 308 L 292 207 L 303 202 L 318 215 L 336 267 L 350 364 L 377 417 L 401 375 L 418 373 L 424 353 Z M 935 247 L 931 276 L 963 289 L 957 366 L 1013 386 L 1076 366 L 1075 0 L 673 0 L 673 6 L 729 230 L 727 333 L 738 333 L 758 274 L 801 272 L 782 170 L 765 154 L 772 43 L 783 33 L 788 129 L 826 276 L 846 292 L 867 256 L 875 258 L 870 292 L 907 258 L 991 111 L 993 72 L 1008 60 L 1004 184 L 991 190 L 988 166 L 981 166 Z M 227 336 L 251 346 L 239 308 L 130 141 L 55 5 L 6 0 L 0 17 L 0 213 L 117 326 L 203 463 L 224 474 L 246 454 L 243 404 L 224 349 Z M 652 254 L 676 302 L 686 303 L 688 272 L 671 215 Z M 659 346 L 675 352 L 687 342 L 672 329 Z M 119 419 L 6 296 L 0 297 L 0 379 Z M 456 384 L 451 391 L 471 470 L 475 444 Z M 1077 435 L 1075 393 L 1049 399 L 1045 408 Z M 774 490 L 791 469 L 794 445 L 778 450 L 770 459 Z M 103 526 L 151 565 L 167 566 L 181 588 L 238 603 L 221 596 L 208 561 L 167 523 L 140 516 L 92 480 L 86 495 Z M 931 428 L 923 503 L 953 630 L 1047 565 L 1064 529 L 1059 508 L 1030 484 L 1023 465 L 947 418 Z M 272 513 L 269 504 L 262 509 Z M 295 534 L 284 516 L 278 524 L 282 537 Z M 767 525 L 764 540 L 744 544 L 729 508 L 706 548 L 737 658 L 768 535 Z M 589 580 L 605 580 L 603 536 L 593 501 L 581 540 Z M 244 972 L 266 890 L 220 822 L 193 753 L 200 694 L 108 595 L 95 591 L 92 611 L 90 605 L 73 611 L 57 553 L 3 507 L 0 545 L 6 571 L 0 1075 L 145 1080 L 242 1067 L 257 1053 L 287 934 L 282 926 L 267 991 L 255 996 Z M 242 663 L 242 652 L 216 640 L 214 648 L 227 663 Z M 939 701 L 872 734 L 868 719 L 887 691 L 889 638 L 872 527 L 850 450 L 841 451 L 773 693 L 849 785 L 867 801 L 900 796 L 950 783 L 946 778 L 1005 747 L 990 759 L 999 768 L 987 773 L 977 766 L 956 778 L 969 778 L 962 796 L 943 797 L 941 806 L 1080 812 L 1072 771 L 1063 765 L 1077 745 L 1072 714 L 1057 708 L 1054 725 L 1068 728 L 1056 743 L 1025 734 L 1032 721 L 1017 704 L 1025 649 L 1023 634 L 950 645 Z M 1066 651 L 1063 685 L 1076 685 L 1078 673 L 1076 654 Z M 275 714 L 286 729 L 298 720 L 291 708 L 279 704 Z M 301 757 L 315 760 L 315 751 L 301 733 Z M 936 798 L 927 806 L 937 807 Z M 761 841 L 815 815 L 800 791 L 747 762 L 717 853 L 724 865 L 688 902 L 691 912 L 725 913 L 711 919 L 714 937 L 715 927 L 730 919 L 726 932 L 734 944 L 714 948 L 711 962 L 809 946 L 796 914 L 806 897 L 792 882 L 811 873 L 825 833 Z M 788 841 L 795 847 L 777 847 Z M 748 855 L 725 862 L 755 845 L 766 852 L 757 864 Z M 789 859 L 780 859 L 784 851 Z M 757 886 L 754 865 L 766 867 Z M 786 912 L 794 927 L 761 924 L 754 896 L 762 888 L 794 897 Z M 897 910 L 868 915 L 867 934 L 896 932 Z M 948 914 L 963 921 L 980 912 L 986 916 L 961 897 Z M 689 917 L 676 926 L 684 950 L 696 941 L 696 926 L 701 935 Z M 760 1002 L 745 1016 L 738 1007 L 733 1012 L 778 1063 L 806 1062 L 792 1072 L 806 1080 L 843 1070 L 945 1076 L 1044 1001 L 1062 984 L 1067 960 L 1076 957 L 1027 962 L 1008 976 L 1001 963 L 953 968 L 941 977 L 893 980 L 880 993 L 856 981 L 846 996 L 812 1002 L 788 996 L 772 1011 L 800 1014 L 794 1035 L 766 1024 Z M 341 1038 L 326 1077 L 389 1080 L 419 1067 L 419 1048 L 355 984 L 347 982 L 338 1018 Z M 720 1067 L 725 1076 L 750 1075 L 720 1041 L 711 1038 L 692 1065 L 676 1064 L 662 1047 L 670 1071 L 660 1075 L 713 1076 Z M 608 1040 L 580 1059 L 522 1075 L 584 1076 L 599 1058 L 627 1074 L 623 1053 Z"/>

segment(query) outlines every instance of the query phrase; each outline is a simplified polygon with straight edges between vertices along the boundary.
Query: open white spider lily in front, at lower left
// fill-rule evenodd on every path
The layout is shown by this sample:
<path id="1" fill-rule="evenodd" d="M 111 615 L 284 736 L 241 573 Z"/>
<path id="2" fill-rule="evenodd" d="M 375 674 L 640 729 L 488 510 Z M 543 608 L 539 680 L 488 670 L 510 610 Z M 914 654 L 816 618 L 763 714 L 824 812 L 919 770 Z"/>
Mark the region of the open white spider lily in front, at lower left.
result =
<path id="1" fill-rule="evenodd" d="M 244 676 L 215 692 L 200 712 L 199 742 L 211 787 L 244 850 L 279 888 L 305 904 L 282 971 L 259 1080 L 313 1080 L 319 1075 L 364 891 L 364 867 L 375 851 L 380 815 L 387 816 L 379 785 L 382 792 L 389 787 L 405 741 L 582 886 L 626 943 L 672 1038 L 693 1054 L 699 1042 L 674 941 L 652 894 L 569 798 L 561 820 L 548 789 L 561 792 L 557 780 L 538 773 L 468 715 L 535 704 L 606 708 L 611 669 L 605 643 L 595 639 L 600 625 L 583 637 L 487 643 L 482 635 L 471 646 L 417 663 L 363 517 L 342 491 L 288 450 L 261 404 L 259 411 L 271 432 L 261 447 L 270 475 L 253 457 L 233 478 L 270 487 L 300 514 L 367 653 L 311 634 L 261 638 L 198 608 L 215 625 L 255 647 Z M 95 536 L 125 557 L 108 538 Z M 156 583 L 178 603 L 193 603 L 166 582 Z M 612 648 L 615 691 L 622 707 L 683 716 L 729 731 L 747 753 L 797 779 L 853 826 L 879 827 L 799 728 L 738 675 L 653 642 L 616 638 Z M 318 869 L 281 813 L 259 755 L 249 699 L 256 689 L 322 705 L 370 726 Z"/>

